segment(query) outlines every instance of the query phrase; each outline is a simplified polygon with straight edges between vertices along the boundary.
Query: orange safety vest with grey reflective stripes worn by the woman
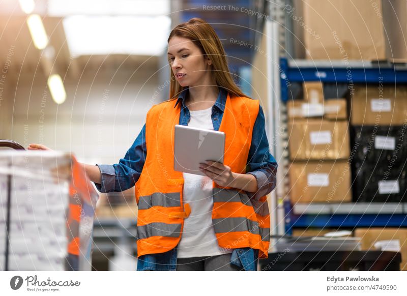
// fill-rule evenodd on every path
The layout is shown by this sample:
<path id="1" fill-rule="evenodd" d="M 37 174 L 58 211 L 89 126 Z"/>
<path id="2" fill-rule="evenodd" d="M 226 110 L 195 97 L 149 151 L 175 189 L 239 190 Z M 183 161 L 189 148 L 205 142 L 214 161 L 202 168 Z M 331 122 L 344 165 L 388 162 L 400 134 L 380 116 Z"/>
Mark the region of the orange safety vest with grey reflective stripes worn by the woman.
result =
<path id="1" fill-rule="evenodd" d="M 183 173 L 174 167 L 174 132 L 181 104 L 174 100 L 153 106 L 146 120 L 147 158 L 135 185 L 138 204 L 137 256 L 164 253 L 175 248 L 190 213 L 183 204 Z M 225 133 L 224 164 L 233 172 L 246 173 L 254 122 L 259 102 L 227 95 L 219 131 Z M 218 245 L 259 250 L 267 258 L 270 214 L 267 197 L 250 199 L 243 190 L 213 182 L 212 223 Z"/>

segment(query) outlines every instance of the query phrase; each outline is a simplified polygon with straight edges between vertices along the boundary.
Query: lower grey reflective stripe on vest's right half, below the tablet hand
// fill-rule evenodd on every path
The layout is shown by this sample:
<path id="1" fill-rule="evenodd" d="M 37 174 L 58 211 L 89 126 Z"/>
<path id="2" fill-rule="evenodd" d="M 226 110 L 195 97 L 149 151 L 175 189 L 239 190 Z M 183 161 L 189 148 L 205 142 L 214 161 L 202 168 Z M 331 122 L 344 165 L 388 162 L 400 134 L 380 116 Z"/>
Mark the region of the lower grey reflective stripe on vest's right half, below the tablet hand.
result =
<path id="1" fill-rule="evenodd" d="M 262 241 L 270 241 L 270 228 L 260 227 L 258 222 L 244 217 L 212 219 L 215 233 L 249 231 L 260 234 Z"/>

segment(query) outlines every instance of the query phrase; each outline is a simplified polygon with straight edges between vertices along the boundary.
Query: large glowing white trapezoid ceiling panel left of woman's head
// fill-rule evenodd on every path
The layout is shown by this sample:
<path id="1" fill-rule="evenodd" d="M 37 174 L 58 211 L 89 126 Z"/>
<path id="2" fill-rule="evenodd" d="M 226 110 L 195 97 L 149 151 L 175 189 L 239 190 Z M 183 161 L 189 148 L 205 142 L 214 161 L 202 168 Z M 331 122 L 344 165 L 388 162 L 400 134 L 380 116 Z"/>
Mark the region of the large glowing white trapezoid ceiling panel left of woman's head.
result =
<path id="1" fill-rule="evenodd" d="M 70 3 L 70 2 L 69 2 Z M 73 57 L 93 54 L 160 55 L 171 28 L 168 16 L 70 16 L 63 20 Z"/>

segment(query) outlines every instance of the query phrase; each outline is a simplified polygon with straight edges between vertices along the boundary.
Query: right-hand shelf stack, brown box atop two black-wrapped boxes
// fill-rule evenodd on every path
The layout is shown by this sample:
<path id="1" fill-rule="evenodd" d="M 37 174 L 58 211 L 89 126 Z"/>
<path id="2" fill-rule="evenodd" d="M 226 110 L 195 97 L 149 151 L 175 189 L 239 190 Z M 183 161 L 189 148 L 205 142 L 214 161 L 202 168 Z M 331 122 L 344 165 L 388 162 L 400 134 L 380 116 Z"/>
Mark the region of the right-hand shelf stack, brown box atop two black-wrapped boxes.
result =
<path id="1" fill-rule="evenodd" d="M 351 114 L 354 201 L 407 201 L 407 87 L 357 85 Z"/>

